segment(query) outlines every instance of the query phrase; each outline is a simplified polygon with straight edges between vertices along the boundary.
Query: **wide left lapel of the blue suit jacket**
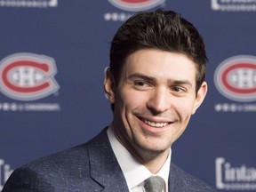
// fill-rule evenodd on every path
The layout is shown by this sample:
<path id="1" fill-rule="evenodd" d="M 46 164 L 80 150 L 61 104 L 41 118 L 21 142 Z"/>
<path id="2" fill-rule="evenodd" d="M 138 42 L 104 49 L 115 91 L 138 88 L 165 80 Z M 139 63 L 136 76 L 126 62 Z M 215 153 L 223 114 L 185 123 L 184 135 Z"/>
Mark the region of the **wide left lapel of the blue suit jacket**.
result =
<path id="1" fill-rule="evenodd" d="M 91 177 L 103 187 L 102 191 L 129 191 L 124 174 L 117 163 L 116 156 L 110 146 L 107 128 L 91 140 L 88 145 L 91 165 Z"/>

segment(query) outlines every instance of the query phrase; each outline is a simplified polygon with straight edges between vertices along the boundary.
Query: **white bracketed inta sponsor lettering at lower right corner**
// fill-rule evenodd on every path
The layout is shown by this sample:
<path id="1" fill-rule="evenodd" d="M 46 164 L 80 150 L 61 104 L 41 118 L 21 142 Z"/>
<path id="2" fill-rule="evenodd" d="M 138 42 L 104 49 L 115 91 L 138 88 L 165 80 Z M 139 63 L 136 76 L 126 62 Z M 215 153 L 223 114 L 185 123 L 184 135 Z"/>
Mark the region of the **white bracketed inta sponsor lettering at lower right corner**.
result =
<path id="1" fill-rule="evenodd" d="M 245 164 L 233 166 L 225 158 L 215 160 L 216 188 L 222 190 L 256 190 L 256 169 Z"/>

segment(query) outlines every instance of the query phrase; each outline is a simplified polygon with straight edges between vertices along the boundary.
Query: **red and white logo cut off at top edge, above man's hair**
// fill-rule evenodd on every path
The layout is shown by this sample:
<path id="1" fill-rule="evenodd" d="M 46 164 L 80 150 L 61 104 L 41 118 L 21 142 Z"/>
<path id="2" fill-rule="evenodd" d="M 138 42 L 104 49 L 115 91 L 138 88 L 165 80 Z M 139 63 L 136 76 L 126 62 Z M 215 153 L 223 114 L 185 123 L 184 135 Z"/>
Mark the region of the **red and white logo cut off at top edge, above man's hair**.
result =
<path id="1" fill-rule="evenodd" d="M 159 4 L 163 4 L 165 0 L 108 0 L 119 9 L 130 12 L 138 12 L 151 9 Z"/>

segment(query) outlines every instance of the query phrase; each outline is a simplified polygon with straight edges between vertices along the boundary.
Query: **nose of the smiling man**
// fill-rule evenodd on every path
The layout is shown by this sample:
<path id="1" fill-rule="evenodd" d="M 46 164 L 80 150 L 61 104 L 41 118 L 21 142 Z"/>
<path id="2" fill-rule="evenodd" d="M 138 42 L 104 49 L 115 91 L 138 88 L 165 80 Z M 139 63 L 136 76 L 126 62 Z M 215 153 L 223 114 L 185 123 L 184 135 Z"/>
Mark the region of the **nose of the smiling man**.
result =
<path id="1" fill-rule="evenodd" d="M 147 107 L 153 114 L 160 114 L 171 108 L 171 95 L 169 89 L 159 87 L 152 92 Z"/>

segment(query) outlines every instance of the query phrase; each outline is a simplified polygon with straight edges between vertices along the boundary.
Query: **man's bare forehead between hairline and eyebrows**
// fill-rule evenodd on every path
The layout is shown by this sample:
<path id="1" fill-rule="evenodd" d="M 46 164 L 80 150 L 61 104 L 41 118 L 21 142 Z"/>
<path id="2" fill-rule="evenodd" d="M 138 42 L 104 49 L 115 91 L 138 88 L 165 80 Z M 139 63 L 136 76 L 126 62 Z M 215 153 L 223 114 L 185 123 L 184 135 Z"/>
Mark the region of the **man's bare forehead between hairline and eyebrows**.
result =
<path id="1" fill-rule="evenodd" d="M 159 79 L 187 79 L 196 83 L 196 64 L 185 54 L 146 49 L 133 52 L 124 63 L 123 76 L 143 73 Z"/>

